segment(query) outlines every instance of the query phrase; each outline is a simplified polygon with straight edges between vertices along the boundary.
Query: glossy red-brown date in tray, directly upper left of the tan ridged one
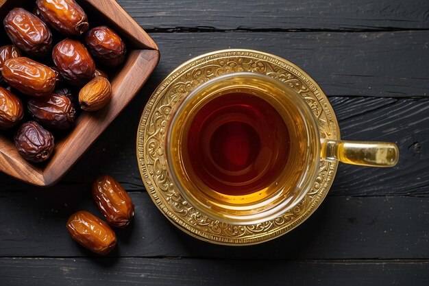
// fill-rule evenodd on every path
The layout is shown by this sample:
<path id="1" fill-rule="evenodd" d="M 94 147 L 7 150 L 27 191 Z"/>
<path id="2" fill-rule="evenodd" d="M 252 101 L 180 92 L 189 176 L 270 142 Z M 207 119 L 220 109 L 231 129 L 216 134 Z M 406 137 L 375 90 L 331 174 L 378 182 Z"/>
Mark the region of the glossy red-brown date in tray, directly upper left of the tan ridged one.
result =
<path id="1" fill-rule="evenodd" d="M 82 86 L 93 78 L 94 60 L 78 40 L 62 40 L 53 47 L 52 58 L 62 77 L 71 84 Z"/>

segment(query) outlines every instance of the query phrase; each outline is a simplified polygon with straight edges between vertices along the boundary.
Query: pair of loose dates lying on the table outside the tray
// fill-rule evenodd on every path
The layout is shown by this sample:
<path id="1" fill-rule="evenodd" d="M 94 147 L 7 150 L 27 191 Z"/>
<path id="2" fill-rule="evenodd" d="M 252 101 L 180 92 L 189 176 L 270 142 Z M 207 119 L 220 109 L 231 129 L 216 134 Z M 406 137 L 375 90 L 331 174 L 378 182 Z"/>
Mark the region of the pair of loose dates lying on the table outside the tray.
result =
<path id="1" fill-rule="evenodd" d="M 117 244 L 117 236 L 110 226 L 124 228 L 130 224 L 134 204 L 121 184 L 110 176 L 101 176 L 94 181 L 93 199 L 107 224 L 88 211 L 78 211 L 69 217 L 66 228 L 84 248 L 108 254 Z"/>

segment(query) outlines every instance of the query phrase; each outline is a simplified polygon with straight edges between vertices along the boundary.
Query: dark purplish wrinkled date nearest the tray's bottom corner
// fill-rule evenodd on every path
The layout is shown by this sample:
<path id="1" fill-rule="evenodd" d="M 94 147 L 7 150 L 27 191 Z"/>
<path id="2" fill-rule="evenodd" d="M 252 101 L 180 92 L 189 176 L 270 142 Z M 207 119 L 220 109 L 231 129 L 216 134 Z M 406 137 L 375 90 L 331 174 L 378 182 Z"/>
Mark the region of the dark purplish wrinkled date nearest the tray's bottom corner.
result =
<path id="1" fill-rule="evenodd" d="M 36 121 L 23 123 L 14 137 L 16 150 L 25 160 L 39 163 L 47 160 L 53 152 L 53 136 Z"/>

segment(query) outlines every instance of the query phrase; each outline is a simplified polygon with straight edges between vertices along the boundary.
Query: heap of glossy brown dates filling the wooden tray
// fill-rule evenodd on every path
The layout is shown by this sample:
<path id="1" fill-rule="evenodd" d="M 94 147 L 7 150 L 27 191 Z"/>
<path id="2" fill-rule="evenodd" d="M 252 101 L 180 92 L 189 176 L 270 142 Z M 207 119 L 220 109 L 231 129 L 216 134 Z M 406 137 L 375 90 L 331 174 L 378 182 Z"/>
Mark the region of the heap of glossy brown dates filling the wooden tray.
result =
<path id="1" fill-rule="evenodd" d="M 39 163 L 54 150 L 54 134 L 75 126 L 80 110 L 108 104 L 103 69 L 123 63 L 123 40 L 104 25 L 90 29 L 75 0 L 37 0 L 3 19 L 10 38 L 0 47 L 0 131 L 12 130 L 19 154 Z"/>

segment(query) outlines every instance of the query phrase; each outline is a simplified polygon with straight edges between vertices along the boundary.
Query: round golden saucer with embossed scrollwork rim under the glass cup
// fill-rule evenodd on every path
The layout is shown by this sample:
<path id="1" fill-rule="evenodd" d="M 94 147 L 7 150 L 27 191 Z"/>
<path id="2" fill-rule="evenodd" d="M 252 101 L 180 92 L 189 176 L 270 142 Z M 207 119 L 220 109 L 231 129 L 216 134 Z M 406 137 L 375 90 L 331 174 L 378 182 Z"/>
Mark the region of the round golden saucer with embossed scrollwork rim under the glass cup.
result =
<path id="1" fill-rule="evenodd" d="M 185 233 L 230 246 L 261 243 L 289 232 L 307 219 L 326 197 L 338 163 L 322 162 L 312 190 L 293 210 L 259 224 L 219 222 L 184 200 L 167 172 L 164 141 L 171 110 L 199 84 L 224 73 L 249 71 L 289 84 L 312 109 L 322 139 L 340 139 L 339 124 L 328 98 L 302 69 L 278 56 L 247 49 L 226 49 L 198 56 L 177 67 L 151 95 L 140 118 L 137 159 L 140 175 L 156 206 Z"/>

